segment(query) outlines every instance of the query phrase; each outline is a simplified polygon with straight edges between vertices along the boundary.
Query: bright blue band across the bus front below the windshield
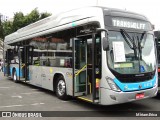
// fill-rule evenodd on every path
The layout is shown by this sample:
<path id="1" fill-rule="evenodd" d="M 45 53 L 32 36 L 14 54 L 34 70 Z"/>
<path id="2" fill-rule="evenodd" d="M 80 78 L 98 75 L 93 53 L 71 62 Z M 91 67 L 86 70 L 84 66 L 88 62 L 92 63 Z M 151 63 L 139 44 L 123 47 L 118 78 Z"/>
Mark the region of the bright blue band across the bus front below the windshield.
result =
<path id="1" fill-rule="evenodd" d="M 114 82 L 123 92 L 138 91 L 154 87 L 156 84 L 156 76 L 146 82 L 122 83 L 117 78 L 114 79 Z"/>

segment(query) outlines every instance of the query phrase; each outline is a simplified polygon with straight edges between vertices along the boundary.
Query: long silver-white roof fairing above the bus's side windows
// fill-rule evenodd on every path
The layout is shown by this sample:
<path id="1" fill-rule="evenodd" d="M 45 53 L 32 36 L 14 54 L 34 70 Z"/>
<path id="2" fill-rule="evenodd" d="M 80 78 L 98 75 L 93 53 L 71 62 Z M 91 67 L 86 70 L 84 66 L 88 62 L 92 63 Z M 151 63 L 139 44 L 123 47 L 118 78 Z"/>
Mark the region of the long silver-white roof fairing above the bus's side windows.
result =
<path id="1" fill-rule="evenodd" d="M 65 12 L 60 15 L 50 16 L 6 36 L 5 43 L 11 44 L 39 35 L 49 34 L 55 31 L 60 31 L 62 29 L 71 28 L 80 24 L 87 23 L 88 18 L 91 17 L 103 17 L 102 9 L 97 7 L 89 7 Z M 86 20 L 86 22 L 81 22 L 82 20 Z M 76 21 L 78 21 L 79 24 L 75 24 Z"/>

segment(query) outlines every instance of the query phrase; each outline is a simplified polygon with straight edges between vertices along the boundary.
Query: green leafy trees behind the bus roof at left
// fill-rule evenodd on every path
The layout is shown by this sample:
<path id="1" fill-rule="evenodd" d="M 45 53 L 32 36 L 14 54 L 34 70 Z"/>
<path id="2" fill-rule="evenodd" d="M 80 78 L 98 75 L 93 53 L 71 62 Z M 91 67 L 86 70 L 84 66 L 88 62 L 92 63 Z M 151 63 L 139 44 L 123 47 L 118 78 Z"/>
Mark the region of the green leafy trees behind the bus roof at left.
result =
<path id="1" fill-rule="evenodd" d="M 50 15 L 51 14 L 47 12 L 39 13 L 37 8 L 32 10 L 27 15 L 24 15 L 22 12 L 16 12 L 14 14 L 13 21 L 5 21 L 0 24 L 0 38 L 4 39 L 4 36 L 9 35 L 22 27 L 25 27 Z"/>

